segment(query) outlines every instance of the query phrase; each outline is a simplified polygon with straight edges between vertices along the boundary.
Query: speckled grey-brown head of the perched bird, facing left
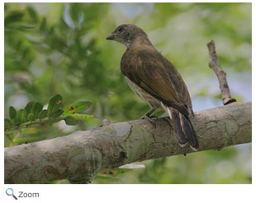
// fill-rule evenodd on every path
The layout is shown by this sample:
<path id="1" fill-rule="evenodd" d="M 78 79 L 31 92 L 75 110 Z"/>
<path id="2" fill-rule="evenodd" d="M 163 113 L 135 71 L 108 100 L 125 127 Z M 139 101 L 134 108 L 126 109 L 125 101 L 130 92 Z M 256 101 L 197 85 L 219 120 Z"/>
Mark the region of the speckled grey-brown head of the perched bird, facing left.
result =
<path id="1" fill-rule="evenodd" d="M 137 38 L 142 37 L 147 39 L 145 31 L 140 29 L 136 25 L 124 24 L 119 25 L 116 30 L 114 30 L 111 35 L 107 37 L 109 40 L 115 40 L 121 44 L 125 44 L 127 48 L 130 47 L 130 44 Z"/>

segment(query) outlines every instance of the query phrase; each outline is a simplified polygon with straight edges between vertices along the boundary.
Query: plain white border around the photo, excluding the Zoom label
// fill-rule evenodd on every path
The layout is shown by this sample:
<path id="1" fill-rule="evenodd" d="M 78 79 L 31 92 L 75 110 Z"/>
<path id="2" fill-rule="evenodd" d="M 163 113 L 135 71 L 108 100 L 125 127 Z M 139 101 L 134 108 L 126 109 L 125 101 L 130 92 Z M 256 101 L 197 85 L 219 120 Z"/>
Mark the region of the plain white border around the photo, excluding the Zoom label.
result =
<path id="1" fill-rule="evenodd" d="M 6 1 L 13 2 L 13 1 Z M 34 1 L 26 1 L 34 2 Z M 52 2 L 52 1 L 40 1 L 40 2 Z M 70 1 L 55 1 L 55 2 L 70 2 Z M 84 2 L 84 1 L 76 1 Z M 109 2 L 109 1 L 91 1 L 91 2 Z M 111 1 L 117 2 L 117 1 Z M 125 1 L 134 2 L 134 1 Z M 145 2 L 145 1 L 140 1 Z M 146 1 L 155 2 L 155 1 Z M 169 2 L 169 1 L 161 1 Z M 183 1 L 175 1 L 183 2 Z M 190 1 L 186 1 L 190 2 Z M 203 1 L 193 1 L 203 2 Z M 211 1 L 211 2 L 222 2 L 222 1 Z M 225 1 L 225 2 L 241 2 L 241 1 Z M 252 1 L 243 1 L 252 2 Z M 255 33 L 255 3 L 253 4 L 253 36 Z M 0 15 L 4 16 L 3 2 L 1 2 Z M 3 21 L 1 26 L 1 41 L 3 40 Z M 255 63 L 255 40 L 253 40 L 253 67 Z M 4 58 L 3 44 L 1 44 L 1 62 L 2 67 Z M 2 74 L 0 78 L 2 81 L 1 88 L 1 106 L 3 107 L 3 68 L 1 68 Z M 253 68 L 253 78 L 255 78 L 255 67 Z M 253 80 L 253 92 L 255 81 Z M 254 100 L 254 94 L 253 94 Z M 255 115 L 255 111 L 253 111 Z M 253 116 L 254 120 L 254 116 Z M 1 114 L 1 121 L 3 121 L 3 113 Z M 3 132 L 3 122 L 1 125 Z M 253 127 L 253 135 L 255 127 Z M 255 143 L 255 136 L 253 136 L 253 143 Z M 3 136 L 1 139 L 1 146 L 3 146 Z M 40 198 L 24 198 L 18 199 L 17 202 L 70 202 L 70 201 L 83 201 L 83 202 L 252 202 L 255 200 L 255 190 L 253 191 L 253 185 L 4 185 L 3 184 L 3 147 L 1 158 L 1 182 L 2 187 L 0 189 L 0 201 L 1 202 L 14 202 L 12 196 L 6 196 L 5 190 L 7 187 L 12 187 L 15 191 L 38 191 L 40 192 Z M 254 170 L 255 170 L 255 149 L 253 147 L 253 183 L 255 182 Z"/>

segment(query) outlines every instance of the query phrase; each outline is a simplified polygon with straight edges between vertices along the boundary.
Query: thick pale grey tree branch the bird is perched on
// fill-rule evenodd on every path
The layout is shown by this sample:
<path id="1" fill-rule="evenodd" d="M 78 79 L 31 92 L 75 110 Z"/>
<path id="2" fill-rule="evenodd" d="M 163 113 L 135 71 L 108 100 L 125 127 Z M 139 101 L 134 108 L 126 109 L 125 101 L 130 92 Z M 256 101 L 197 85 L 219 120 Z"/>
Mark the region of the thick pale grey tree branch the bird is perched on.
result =
<path id="1" fill-rule="evenodd" d="M 251 103 L 234 103 L 195 113 L 199 150 L 251 142 Z M 40 183 L 69 178 L 88 182 L 98 172 L 124 164 L 192 153 L 180 147 L 173 127 L 160 118 L 112 123 L 69 136 L 5 148 L 5 183 Z"/>

